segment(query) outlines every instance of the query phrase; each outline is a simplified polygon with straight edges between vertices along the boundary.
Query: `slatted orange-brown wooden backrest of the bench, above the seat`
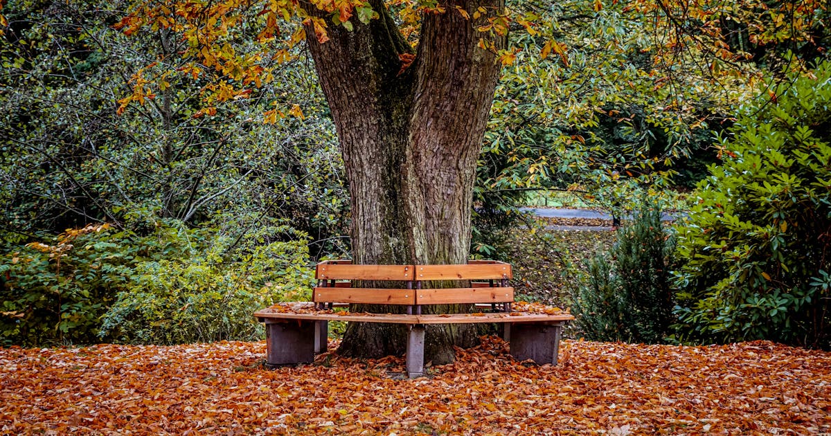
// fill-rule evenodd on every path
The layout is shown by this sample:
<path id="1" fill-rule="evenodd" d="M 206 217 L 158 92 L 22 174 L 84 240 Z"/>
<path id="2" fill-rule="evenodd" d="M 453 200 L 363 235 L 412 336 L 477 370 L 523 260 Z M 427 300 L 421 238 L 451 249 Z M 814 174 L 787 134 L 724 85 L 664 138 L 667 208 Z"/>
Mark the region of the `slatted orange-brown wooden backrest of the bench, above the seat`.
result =
<path id="1" fill-rule="evenodd" d="M 420 306 L 431 304 L 509 303 L 514 301 L 508 263 L 470 261 L 463 265 L 353 265 L 352 261 L 317 264 L 315 303 Z M 352 281 L 401 282 L 397 288 L 352 287 Z M 470 281 L 470 287 L 425 288 L 431 281 Z M 486 282 L 483 282 L 486 281 Z"/>

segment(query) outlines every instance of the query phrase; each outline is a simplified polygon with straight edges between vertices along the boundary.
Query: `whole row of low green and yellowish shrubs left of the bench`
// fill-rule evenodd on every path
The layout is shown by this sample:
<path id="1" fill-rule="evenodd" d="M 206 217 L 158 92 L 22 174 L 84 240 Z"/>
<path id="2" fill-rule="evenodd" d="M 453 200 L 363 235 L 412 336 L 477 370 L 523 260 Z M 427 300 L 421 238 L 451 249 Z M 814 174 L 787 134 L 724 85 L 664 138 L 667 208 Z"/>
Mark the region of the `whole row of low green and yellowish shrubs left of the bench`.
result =
<path id="1" fill-rule="evenodd" d="M 251 339 L 253 311 L 309 287 L 307 237 L 233 236 L 168 221 L 144 237 L 103 224 L 29 243 L 0 257 L 2 345 Z"/>

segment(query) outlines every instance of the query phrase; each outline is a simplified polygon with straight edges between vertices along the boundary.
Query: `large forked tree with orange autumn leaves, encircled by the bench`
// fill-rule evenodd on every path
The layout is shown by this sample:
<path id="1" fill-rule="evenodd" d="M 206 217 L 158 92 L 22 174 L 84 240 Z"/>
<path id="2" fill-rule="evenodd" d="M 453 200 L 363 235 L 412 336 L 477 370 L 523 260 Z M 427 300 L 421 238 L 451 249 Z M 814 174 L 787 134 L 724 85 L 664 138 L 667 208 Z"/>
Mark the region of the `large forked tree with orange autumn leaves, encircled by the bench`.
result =
<path id="1" fill-rule="evenodd" d="M 513 11 L 501 0 L 143 2 L 119 27 L 127 34 L 161 32 L 172 45 L 169 52 L 185 62 L 152 82 L 135 75 L 134 92 L 120 100 L 120 110 L 153 98 L 155 86 L 165 87 L 165 75 L 179 74 L 211 77 L 203 98 L 204 113 L 213 114 L 214 102 L 246 98 L 253 87 L 275 80 L 262 66 L 264 58 L 289 61 L 292 47 L 305 41 L 337 126 L 355 261 L 465 262 L 476 162 L 499 68 L 513 63 L 520 50 L 508 46 L 509 28 L 537 37 L 541 57 L 569 62 L 568 46 L 559 41 L 563 35 L 547 27 L 551 15 L 543 5 L 510 6 Z M 744 71 L 740 64 L 753 56 L 746 47 L 809 41 L 819 5 L 597 0 L 586 6 L 584 13 L 611 7 L 652 16 L 644 29 L 652 32 L 655 47 L 647 61 L 666 71 L 700 62 L 704 76 L 720 79 Z M 263 51 L 237 56 L 225 41 L 234 27 L 253 29 Z M 555 32 L 540 32 L 545 28 Z M 667 77 L 671 86 L 673 77 Z M 674 96 L 666 106 L 683 109 L 683 99 Z M 297 106 L 275 107 L 266 120 L 286 112 L 300 115 Z M 473 337 L 465 328 L 428 331 L 428 358 L 451 360 L 452 345 L 470 345 Z M 400 353 L 402 338 L 400 331 L 354 325 L 342 351 Z"/>

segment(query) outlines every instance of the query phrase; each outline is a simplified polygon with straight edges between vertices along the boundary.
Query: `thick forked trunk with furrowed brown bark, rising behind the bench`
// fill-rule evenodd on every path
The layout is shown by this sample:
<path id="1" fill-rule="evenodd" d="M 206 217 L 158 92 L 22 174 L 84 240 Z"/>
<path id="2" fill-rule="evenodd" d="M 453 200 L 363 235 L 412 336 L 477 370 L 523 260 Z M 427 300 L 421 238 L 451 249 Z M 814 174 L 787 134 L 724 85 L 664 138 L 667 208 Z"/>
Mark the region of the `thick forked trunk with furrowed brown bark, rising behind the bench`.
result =
<path id="1" fill-rule="evenodd" d="M 466 19 L 484 7 L 491 17 L 504 0 L 442 3 L 424 17 L 416 59 L 383 2 L 380 18 L 355 29 L 330 26 L 330 41 L 308 47 L 337 126 L 352 202 L 352 251 L 364 264 L 465 263 L 470 252 L 476 160 L 499 61 L 479 40 L 504 47 L 505 37 L 479 32 Z M 311 12 L 311 11 L 310 11 Z M 391 311 L 393 308 L 374 308 Z M 470 325 L 431 326 L 425 360 L 453 359 L 453 345 L 475 343 Z M 406 347 L 401 326 L 351 323 L 345 355 L 379 357 Z"/>

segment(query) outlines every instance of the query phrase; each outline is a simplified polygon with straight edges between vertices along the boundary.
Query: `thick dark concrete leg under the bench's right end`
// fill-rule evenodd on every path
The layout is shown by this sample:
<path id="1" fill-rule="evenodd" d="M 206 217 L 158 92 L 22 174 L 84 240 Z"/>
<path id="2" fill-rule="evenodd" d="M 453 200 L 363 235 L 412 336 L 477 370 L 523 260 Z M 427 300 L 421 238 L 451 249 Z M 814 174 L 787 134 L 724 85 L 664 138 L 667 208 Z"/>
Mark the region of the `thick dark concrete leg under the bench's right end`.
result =
<path id="1" fill-rule="evenodd" d="M 511 355 L 516 360 L 534 360 L 539 365 L 557 365 L 561 323 L 513 323 L 510 329 Z"/>

